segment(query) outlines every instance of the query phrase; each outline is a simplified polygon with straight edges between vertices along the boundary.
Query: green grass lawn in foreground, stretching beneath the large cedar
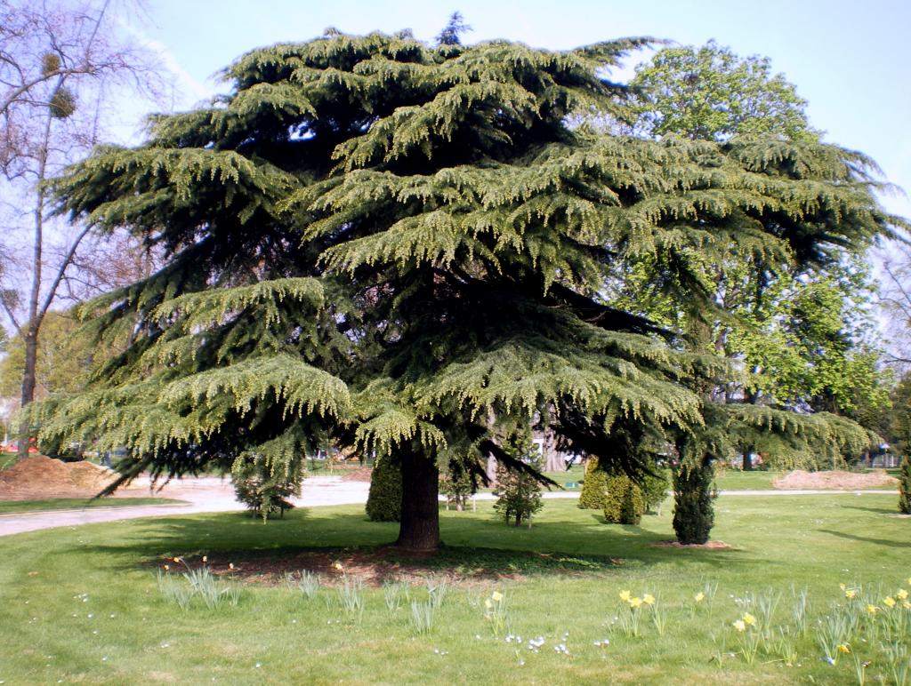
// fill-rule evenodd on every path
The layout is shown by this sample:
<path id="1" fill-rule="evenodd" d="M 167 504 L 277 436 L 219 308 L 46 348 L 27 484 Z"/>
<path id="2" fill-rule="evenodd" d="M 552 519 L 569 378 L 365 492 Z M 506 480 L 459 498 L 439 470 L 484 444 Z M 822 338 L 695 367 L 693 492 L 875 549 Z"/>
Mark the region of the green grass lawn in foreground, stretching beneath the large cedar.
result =
<path id="1" fill-rule="evenodd" d="M 382 589 L 363 590 L 361 613 L 345 611 L 338 573 L 312 600 L 281 582 L 261 583 L 281 579 L 281 568 L 269 565 L 308 550 L 349 564 L 394 540 L 396 526 L 365 521 L 361 507 L 293 510 L 266 525 L 229 513 L 5 537 L 0 681 L 853 683 L 852 655 L 832 666 L 816 642 L 817 618 L 849 602 L 839 583 L 858 589 L 851 602 L 881 608 L 864 620 L 871 640 L 850 643 L 861 661 L 872 661 L 869 681 L 892 678 L 878 648 L 889 643 L 880 624 L 905 618 L 905 638 L 893 642 L 907 650 L 911 641 L 911 612 L 900 602 L 894 610 L 883 603 L 899 588 L 911 590 L 911 520 L 895 516 L 894 496 L 722 496 L 713 538 L 730 550 L 656 546 L 673 537 L 670 509 L 645 517 L 641 527 L 607 526 L 572 500 L 550 500 L 531 530 L 495 520 L 488 502 L 476 513 L 442 512 L 447 548 L 439 559 L 420 562 L 421 569 L 462 580 L 450 580 L 426 634 L 415 630 L 408 602 L 387 608 Z M 388 558 L 382 549 L 375 554 Z M 160 590 L 189 588 L 175 556 L 196 567 L 203 555 L 220 579 L 236 575 L 236 606 L 207 609 L 196 598 L 181 610 Z M 417 564 L 387 561 L 403 570 Z M 156 570 L 166 562 L 170 570 L 159 587 Z M 229 563 L 236 570 L 228 572 Z M 276 574 L 244 576 L 263 569 Z M 410 573 L 411 598 L 424 601 L 427 590 Z M 694 596 L 707 584 L 717 584 L 717 592 L 711 603 L 697 604 Z M 792 595 L 804 587 L 805 637 L 793 635 Z M 657 599 L 663 632 L 645 613 L 640 636 L 627 635 L 620 626 L 623 590 Z M 751 604 L 751 594 L 766 590 L 781 593 L 767 621 L 760 604 Z M 485 601 L 500 605 L 495 591 L 504 596 L 508 631 L 521 641 L 507 641 L 506 628 L 495 636 L 494 622 L 485 620 Z M 740 634 L 732 626 L 746 611 L 774 636 L 789 631 L 787 650 L 770 641 L 747 664 L 741 641 L 759 630 Z M 528 641 L 538 638 L 537 652 L 529 650 Z M 565 651 L 555 650 L 561 645 Z M 796 657 L 783 659 L 791 650 Z"/>

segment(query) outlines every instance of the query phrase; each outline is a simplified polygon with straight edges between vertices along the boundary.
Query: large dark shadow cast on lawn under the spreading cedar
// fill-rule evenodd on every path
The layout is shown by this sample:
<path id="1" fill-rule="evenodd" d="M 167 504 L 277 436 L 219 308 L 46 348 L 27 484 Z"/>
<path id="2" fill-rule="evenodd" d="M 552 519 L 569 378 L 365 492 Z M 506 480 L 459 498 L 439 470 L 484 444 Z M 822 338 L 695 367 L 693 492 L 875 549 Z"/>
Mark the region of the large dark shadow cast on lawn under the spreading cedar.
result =
<path id="1" fill-rule="evenodd" d="M 309 570 L 333 584 L 343 575 L 369 585 L 384 580 L 444 577 L 456 583 L 535 576 L 610 576 L 652 564 L 692 562 L 731 568 L 746 563 L 738 550 L 659 547 L 666 535 L 630 526 L 579 520 L 536 522 L 532 529 L 501 521 L 445 517 L 444 545 L 434 554 L 407 553 L 390 544 L 396 523 L 364 520 L 363 512 L 311 516 L 294 510 L 284 520 L 251 520 L 240 513 L 136 520 L 121 540 L 80 546 L 118 570 L 186 571 L 205 565 L 215 574 L 263 585 L 285 583 L 285 574 Z M 749 556 L 747 556 L 749 557 Z M 174 558 L 180 561 L 175 562 Z M 231 569 L 233 565 L 233 569 Z"/>

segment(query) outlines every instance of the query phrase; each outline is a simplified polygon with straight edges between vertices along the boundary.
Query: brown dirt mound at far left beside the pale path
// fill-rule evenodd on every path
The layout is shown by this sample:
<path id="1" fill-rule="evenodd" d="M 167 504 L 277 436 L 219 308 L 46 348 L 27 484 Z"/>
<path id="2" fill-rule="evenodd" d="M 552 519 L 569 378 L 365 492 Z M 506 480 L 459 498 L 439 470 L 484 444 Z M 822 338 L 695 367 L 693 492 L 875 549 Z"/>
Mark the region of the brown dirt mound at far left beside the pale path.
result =
<path id="1" fill-rule="evenodd" d="M 117 473 L 91 462 L 35 455 L 0 470 L 0 499 L 91 498 Z"/>

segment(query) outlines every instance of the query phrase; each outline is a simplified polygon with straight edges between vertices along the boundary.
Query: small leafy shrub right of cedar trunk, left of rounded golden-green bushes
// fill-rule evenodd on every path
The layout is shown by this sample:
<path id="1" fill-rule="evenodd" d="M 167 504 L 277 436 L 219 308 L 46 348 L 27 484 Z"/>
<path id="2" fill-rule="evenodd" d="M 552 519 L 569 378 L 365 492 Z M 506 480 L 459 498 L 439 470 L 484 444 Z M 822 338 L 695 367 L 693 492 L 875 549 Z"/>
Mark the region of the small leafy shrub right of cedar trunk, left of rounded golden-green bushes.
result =
<path id="1" fill-rule="evenodd" d="M 541 470 L 541 454 L 527 431 L 510 436 L 503 446 L 507 455 L 531 470 L 510 468 L 499 464 L 496 468 L 496 502 L 494 510 L 507 522 L 516 526 L 523 521 L 531 524 L 532 515 L 544 507 L 541 484 L 535 476 Z"/>

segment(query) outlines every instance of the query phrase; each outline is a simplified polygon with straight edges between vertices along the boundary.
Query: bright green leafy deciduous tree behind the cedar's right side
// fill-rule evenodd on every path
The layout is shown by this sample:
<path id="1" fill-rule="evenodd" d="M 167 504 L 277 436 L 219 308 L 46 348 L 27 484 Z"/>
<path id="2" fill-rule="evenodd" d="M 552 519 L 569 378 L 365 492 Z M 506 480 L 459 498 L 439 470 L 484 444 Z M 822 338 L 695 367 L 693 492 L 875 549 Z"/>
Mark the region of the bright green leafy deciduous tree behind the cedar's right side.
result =
<path id="1" fill-rule="evenodd" d="M 783 76 L 773 76 L 767 58 L 741 58 L 713 42 L 660 50 L 640 66 L 632 85 L 640 89 L 637 127 L 647 136 L 818 137 L 805 101 Z M 873 425 L 871 409 L 887 404 L 886 384 L 878 353 L 865 338 L 872 328 L 869 269 L 862 254 L 851 252 L 813 264 L 741 243 L 711 260 L 693 256 L 718 311 L 711 331 L 691 345 L 737 360 L 738 373 L 718 378 L 711 389 L 716 398 L 826 410 Z M 697 328 L 686 292 L 668 298 L 654 288 L 661 268 L 647 258 L 629 269 L 623 290 L 630 306 L 667 326 Z"/>

